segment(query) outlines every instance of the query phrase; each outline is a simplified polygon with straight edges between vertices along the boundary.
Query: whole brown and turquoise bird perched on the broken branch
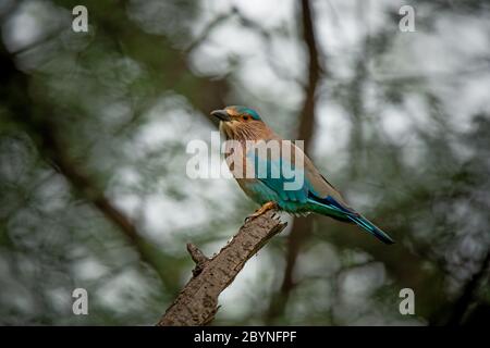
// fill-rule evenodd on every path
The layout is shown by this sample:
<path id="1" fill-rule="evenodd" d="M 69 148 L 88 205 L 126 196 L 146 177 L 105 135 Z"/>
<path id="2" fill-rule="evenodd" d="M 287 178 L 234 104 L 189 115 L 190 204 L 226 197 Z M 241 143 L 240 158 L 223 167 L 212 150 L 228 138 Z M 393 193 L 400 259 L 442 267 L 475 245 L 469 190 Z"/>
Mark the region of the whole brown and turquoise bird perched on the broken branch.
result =
<path id="1" fill-rule="evenodd" d="M 228 162 L 228 164 L 244 192 L 261 206 L 249 219 L 270 209 L 278 209 L 294 215 L 315 212 L 356 224 L 385 244 L 394 243 L 388 234 L 351 208 L 333 185 L 320 174 L 311 160 L 304 154 L 303 150 L 293 141 L 278 136 L 256 111 L 233 105 L 223 110 L 215 110 L 211 112 L 211 116 L 219 120 L 219 128 L 226 144 L 234 140 L 230 144 L 242 145 L 243 150 L 235 151 L 234 162 Z M 254 147 L 245 146 L 246 144 L 269 144 L 271 141 L 287 145 L 290 150 L 260 152 L 256 151 Z M 230 154 L 231 151 L 225 152 Z M 299 163 L 296 161 L 297 158 L 302 159 Z M 291 188 L 290 186 L 287 188 L 286 184 L 291 184 L 292 179 L 281 170 L 272 175 L 272 171 L 281 169 L 283 163 L 289 163 L 295 173 L 302 174 L 303 179 L 299 185 L 296 185 L 297 187 Z M 252 175 L 240 175 L 238 177 L 236 175 L 240 173 L 236 171 L 237 167 L 242 171 L 241 173 L 246 171 Z M 267 170 L 264 171 L 264 167 Z"/>

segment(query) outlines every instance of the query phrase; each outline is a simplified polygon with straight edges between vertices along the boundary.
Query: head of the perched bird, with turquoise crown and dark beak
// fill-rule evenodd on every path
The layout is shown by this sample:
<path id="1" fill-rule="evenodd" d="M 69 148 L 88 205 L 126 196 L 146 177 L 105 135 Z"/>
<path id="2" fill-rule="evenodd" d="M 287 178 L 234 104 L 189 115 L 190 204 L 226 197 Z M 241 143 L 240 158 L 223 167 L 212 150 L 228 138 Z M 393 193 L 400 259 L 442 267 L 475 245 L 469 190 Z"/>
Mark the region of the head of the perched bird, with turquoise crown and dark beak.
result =
<path id="1" fill-rule="evenodd" d="M 215 110 L 211 116 L 220 121 L 220 129 L 229 139 L 256 139 L 267 130 L 257 111 L 246 107 L 226 107 Z"/>

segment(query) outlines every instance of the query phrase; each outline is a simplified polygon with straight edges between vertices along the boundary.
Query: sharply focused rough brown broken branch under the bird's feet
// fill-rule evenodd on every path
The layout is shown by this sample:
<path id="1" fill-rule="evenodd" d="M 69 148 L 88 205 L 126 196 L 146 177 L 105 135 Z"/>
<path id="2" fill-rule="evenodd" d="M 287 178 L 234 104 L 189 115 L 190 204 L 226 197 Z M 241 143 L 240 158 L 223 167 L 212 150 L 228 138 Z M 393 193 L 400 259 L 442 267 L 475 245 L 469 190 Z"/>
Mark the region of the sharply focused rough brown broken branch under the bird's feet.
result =
<path id="1" fill-rule="evenodd" d="M 188 244 L 187 250 L 196 262 L 193 277 L 157 325 L 206 325 L 211 322 L 218 311 L 218 296 L 233 282 L 247 260 L 286 226 L 274 217 L 275 213 L 270 210 L 246 222 L 233 239 L 210 259 Z"/>

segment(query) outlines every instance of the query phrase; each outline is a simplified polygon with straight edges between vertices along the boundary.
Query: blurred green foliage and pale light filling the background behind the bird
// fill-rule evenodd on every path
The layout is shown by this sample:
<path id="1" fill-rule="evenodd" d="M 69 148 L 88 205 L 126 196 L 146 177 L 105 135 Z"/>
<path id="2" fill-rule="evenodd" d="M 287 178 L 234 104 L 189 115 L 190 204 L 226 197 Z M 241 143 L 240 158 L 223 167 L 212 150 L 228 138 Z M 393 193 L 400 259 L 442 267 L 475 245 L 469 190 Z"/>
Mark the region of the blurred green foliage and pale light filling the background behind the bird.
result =
<path id="1" fill-rule="evenodd" d="M 215 324 L 489 320 L 490 8 L 411 3 L 416 33 L 399 32 L 392 1 L 311 1 L 323 72 L 310 154 L 397 244 L 308 217 L 287 300 L 274 301 L 286 231 Z M 88 33 L 71 29 L 77 4 Z M 185 149 L 209 140 L 207 114 L 224 104 L 296 136 L 306 48 L 299 7 L 281 5 L 0 5 L 1 324 L 154 324 L 191 276 L 185 244 L 212 254 L 236 232 L 254 204 L 231 181 L 189 179 Z M 76 287 L 88 315 L 72 313 Z M 399 312 L 405 287 L 415 315 Z"/>

